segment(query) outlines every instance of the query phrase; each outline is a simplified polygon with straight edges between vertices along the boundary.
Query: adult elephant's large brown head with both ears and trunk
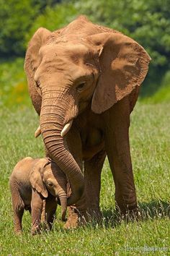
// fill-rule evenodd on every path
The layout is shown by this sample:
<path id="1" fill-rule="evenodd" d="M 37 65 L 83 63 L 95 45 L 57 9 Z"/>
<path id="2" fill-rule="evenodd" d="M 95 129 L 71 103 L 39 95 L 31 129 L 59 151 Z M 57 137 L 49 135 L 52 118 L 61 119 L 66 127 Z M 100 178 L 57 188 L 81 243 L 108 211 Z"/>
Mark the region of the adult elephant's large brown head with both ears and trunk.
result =
<path id="1" fill-rule="evenodd" d="M 71 182 L 72 202 L 84 177 L 63 136 L 86 108 L 101 114 L 140 86 L 151 59 L 135 40 L 101 31 L 82 18 L 53 33 L 40 28 L 24 64 L 45 147 Z"/>

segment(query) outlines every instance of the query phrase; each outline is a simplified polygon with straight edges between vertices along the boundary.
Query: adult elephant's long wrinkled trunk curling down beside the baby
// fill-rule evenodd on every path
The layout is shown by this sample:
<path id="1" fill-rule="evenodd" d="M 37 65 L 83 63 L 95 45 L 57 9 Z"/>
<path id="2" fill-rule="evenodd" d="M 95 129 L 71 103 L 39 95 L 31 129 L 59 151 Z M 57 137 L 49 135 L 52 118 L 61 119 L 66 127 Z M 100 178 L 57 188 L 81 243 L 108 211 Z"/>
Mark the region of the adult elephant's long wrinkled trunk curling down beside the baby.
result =
<path id="1" fill-rule="evenodd" d="M 69 110 L 69 112 L 68 112 Z M 69 113 L 69 115 L 68 115 Z M 56 90 L 42 90 L 40 129 L 50 157 L 66 174 L 72 194 L 68 205 L 75 203 L 84 192 L 84 176 L 68 150 L 66 138 L 61 137 L 63 127 L 78 114 L 73 96 Z"/>

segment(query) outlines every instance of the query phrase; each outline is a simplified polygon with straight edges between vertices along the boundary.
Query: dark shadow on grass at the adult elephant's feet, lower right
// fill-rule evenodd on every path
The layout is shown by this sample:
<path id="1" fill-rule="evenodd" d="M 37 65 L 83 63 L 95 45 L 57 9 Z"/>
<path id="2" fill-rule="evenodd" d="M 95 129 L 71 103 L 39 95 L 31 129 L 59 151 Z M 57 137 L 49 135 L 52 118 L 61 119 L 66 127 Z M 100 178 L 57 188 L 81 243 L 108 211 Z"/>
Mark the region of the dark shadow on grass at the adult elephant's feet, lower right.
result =
<path id="1" fill-rule="evenodd" d="M 115 228 L 117 225 L 120 225 L 122 221 L 147 221 L 152 219 L 160 219 L 169 217 L 170 218 L 170 202 L 164 202 L 161 200 L 153 200 L 151 202 L 139 202 L 138 203 L 138 212 L 139 217 L 135 218 L 134 216 L 120 216 L 120 213 L 117 213 L 117 210 L 112 208 L 107 210 L 102 210 L 102 225 L 105 227 Z"/>

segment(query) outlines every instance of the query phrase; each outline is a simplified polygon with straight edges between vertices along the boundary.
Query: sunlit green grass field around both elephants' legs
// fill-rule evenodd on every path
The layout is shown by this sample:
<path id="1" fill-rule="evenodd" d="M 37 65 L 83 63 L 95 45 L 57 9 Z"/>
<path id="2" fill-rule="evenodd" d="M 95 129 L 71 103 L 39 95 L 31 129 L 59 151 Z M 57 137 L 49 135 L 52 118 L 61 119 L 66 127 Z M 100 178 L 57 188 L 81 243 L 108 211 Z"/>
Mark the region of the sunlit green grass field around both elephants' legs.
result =
<path id="1" fill-rule="evenodd" d="M 11 108 L 13 109 L 13 108 Z M 131 116 L 130 143 L 140 221 L 125 223 L 115 215 L 114 186 L 106 161 L 102 171 L 103 223 L 64 231 L 55 221 L 53 231 L 30 235 L 30 215 L 24 213 L 22 236 L 15 236 L 9 175 L 25 156 L 43 156 L 42 139 L 31 107 L 1 108 L 0 112 L 0 255 L 168 255 L 170 184 L 170 104 L 138 103 Z M 60 217 L 58 208 L 58 218 Z"/>

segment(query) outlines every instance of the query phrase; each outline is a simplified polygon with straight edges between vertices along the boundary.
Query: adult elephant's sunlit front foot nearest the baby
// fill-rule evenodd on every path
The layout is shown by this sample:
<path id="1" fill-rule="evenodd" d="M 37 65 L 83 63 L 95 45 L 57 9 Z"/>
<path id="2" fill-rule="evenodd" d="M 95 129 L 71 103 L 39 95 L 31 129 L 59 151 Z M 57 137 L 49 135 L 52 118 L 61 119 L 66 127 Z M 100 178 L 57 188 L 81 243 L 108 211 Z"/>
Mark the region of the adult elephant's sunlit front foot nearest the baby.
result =
<path id="1" fill-rule="evenodd" d="M 79 211 L 76 207 L 69 207 L 68 209 L 68 220 L 64 225 L 64 229 L 76 229 L 79 226 L 84 226 L 86 224 L 86 213 L 85 211 Z"/>

